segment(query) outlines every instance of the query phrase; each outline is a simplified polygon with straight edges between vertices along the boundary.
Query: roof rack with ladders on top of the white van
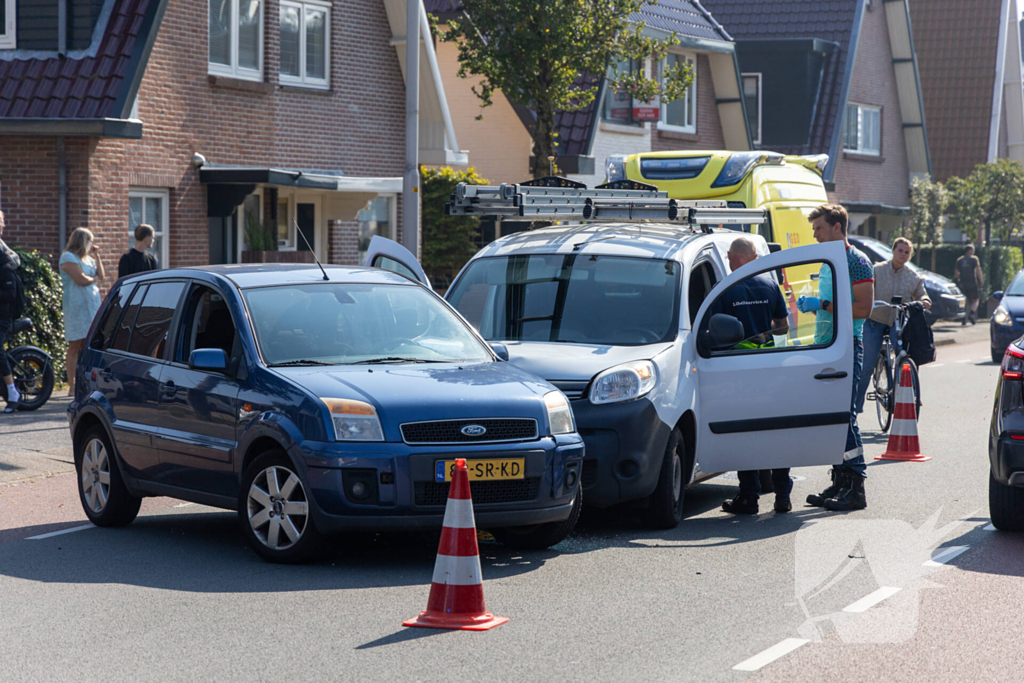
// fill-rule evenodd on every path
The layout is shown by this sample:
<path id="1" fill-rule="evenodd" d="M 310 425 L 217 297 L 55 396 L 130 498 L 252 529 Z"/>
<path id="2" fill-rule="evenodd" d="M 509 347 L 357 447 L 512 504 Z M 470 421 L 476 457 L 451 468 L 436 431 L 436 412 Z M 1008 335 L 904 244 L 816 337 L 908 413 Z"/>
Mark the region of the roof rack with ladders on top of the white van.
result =
<path id="1" fill-rule="evenodd" d="M 444 212 L 449 216 L 488 216 L 496 220 L 610 222 L 647 220 L 699 227 L 765 222 L 763 209 L 730 209 L 724 200 L 673 200 L 654 185 L 616 180 L 594 189 L 582 182 L 547 176 L 501 185 L 456 185 Z"/>

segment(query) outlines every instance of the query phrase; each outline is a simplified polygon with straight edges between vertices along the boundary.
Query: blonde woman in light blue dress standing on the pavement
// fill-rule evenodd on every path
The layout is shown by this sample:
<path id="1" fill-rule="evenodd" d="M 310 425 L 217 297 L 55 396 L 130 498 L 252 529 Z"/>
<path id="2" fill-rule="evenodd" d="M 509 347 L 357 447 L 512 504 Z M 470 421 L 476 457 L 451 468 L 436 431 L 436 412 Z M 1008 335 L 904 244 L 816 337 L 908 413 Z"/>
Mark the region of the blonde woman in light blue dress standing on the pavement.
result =
<path id="1" fill-rule="evenodd" d="M 105 276 L 99 249 L 92 242 L 92 232 L 84 227 L 76 228 L 68 238 L 65 253 L 60 255 L 65 339 L 68 340 L 68 393 L 72 396 L 75 395 L 78 354 L 101 302 L 97 283 L 103 282 Z"/>

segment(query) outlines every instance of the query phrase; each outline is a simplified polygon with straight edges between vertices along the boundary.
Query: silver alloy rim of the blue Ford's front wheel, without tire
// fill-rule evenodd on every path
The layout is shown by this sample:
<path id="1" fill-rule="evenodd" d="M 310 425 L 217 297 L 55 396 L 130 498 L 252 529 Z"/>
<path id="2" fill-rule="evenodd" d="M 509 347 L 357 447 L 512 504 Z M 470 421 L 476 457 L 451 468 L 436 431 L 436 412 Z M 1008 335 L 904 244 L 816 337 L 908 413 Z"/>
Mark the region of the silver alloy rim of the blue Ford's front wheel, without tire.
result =
<path id="1" fill-rule="evenodd" d="M 271 550 L 299 542 L 309 520 L 309 503 L 298 475 L 276 465 L 256 475 L 249 487 L 249 526 Z"/>

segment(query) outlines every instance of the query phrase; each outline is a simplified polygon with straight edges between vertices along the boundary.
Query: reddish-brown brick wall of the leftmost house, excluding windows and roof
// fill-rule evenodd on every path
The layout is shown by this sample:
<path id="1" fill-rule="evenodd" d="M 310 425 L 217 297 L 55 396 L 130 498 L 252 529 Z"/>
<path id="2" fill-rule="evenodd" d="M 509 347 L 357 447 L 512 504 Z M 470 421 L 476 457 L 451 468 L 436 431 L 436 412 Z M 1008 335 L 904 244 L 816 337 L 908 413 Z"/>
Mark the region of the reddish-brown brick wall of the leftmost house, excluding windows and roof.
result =
<path id="1" fill-rule="evenodd" d="M 278 0 L 264 0 L 263 10 L 262 84 L 211 78 L 208 0 L 170 0 L 139 89 L 142 139 L 68 138 L 69 229 L 92 229 L 115 268 L 128 242 L 128 188 L 137 183 L 169 189 L 169 265 L 208 262 L 197 152 L 217 164 L 402 174 L 404 84 L 383 3 L 333 2 L 329 92 L 281 87 Z M 58 250 L 54 139 L 0 138 L 0 183 L 5 237 Z M 330 261 L 354 262 L 356 230 L 353 221 L 331 221 Z"/>

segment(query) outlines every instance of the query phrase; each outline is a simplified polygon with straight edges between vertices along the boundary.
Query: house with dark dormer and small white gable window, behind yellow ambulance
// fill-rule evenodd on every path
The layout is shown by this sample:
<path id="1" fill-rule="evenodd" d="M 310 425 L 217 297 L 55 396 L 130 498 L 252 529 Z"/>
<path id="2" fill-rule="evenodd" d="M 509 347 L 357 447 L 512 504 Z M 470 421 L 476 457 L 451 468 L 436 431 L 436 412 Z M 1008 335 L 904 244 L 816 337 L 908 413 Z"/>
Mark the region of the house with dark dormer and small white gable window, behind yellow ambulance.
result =
<path id="1" fill-rule="evenodd" d="M 906 0 L 705 0 L 761 84 L 757 147 L 827 154 L 854 232 L 888 240 L 931 172 Z M 754 108 L 751 102 L 749 108 Z"/>

